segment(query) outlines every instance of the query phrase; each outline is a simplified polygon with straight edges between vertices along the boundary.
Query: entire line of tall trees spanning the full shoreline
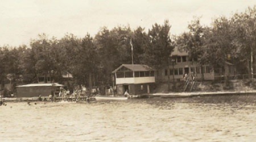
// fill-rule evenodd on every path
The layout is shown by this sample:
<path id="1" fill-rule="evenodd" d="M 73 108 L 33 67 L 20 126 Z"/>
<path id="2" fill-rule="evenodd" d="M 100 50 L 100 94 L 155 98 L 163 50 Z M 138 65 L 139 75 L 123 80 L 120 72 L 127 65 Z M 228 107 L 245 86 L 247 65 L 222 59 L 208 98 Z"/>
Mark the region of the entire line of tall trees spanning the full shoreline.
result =
<path id="1" fill-rule="evenodd" d="M 131 43 L 134 64 L 147 64 L 156 69 L 169 64 L 174 47 L 196 57 L 200 65 L 224 68 L 225 62 L 236 65 L 237 73 L 254 73 L 256 46 L 256 8 L 236 13 L 230 18 L 220 16 L 211 26 L 195 18 L 188 32 L 172 36 L 168 20 L 154 24 L 148 31 L 129 26 L 109 30 L 101 28 L 92 37 L 78 38 L 66 34 L 61 39 L 41 34 L 30 46 L 0 47 L 0 81 L 33 83 L 40 76 L 50 76 L 61 82 L 61 74 L 71 73 L 73 84 L 88 86 L 89 77 L 96 85 L 111 84 L 111 72 L 121 64 L 131 64 Z M 132 42 L 131 42 L 132 41 Z"/>

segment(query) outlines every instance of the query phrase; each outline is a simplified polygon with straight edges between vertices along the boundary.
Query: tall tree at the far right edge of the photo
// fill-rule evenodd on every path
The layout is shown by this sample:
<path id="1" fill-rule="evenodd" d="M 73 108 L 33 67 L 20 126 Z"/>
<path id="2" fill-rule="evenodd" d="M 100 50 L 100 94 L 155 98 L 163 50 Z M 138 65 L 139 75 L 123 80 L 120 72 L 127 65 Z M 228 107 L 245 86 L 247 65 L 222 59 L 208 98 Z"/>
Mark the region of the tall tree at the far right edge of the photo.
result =
<path id="1" fill-rule="evenodd" d="M 253 74 L 253 62 L 255 66 L 254 59 L 256 55 L 256 7 L 248 7 L 245 12 L 234 14 L 231 20 L 234 31 L 234 44 L 237 47 L 237 52 L 234 56 L 237 57 L 238 62 L 242 62 L 247 66 L 249 74 Z"/>

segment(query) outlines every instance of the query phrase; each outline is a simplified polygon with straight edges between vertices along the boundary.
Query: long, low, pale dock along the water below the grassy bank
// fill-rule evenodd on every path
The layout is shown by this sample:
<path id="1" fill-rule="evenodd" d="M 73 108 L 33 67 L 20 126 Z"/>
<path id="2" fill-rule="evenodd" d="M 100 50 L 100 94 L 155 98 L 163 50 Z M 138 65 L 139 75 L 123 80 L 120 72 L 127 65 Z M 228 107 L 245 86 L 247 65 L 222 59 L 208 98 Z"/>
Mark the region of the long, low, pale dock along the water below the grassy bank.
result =
<path id="1" fill-rule="evenodd" d="M 253 91 L 216 91 L 216 92 L 183 92 L 183 93 L 154 93 L 148 94 L 149 98 L 185 98 L 197 96 L 214 96 L 214 95 L 256 95 L 256 90 Z"/>

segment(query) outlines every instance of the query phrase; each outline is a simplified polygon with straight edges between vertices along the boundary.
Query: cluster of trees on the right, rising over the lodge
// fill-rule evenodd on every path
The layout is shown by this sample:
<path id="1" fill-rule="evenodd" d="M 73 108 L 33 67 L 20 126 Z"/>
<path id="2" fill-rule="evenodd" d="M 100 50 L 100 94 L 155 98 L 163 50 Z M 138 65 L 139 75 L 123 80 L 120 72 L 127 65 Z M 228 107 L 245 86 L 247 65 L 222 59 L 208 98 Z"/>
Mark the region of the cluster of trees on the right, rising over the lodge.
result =
<path id="1" fill-rule="evenodd" d="M 203 26 L 200 18 L 195 18 L 188 29 L 188 32 L 176 36 L 175 42 L 189 56 L 196 57 L 200 65 L 209 64 L 213 68 L 224 69 L 225 62 L 230 62 L 234 64 L 237 74 L 255 73 L 255 6 L 230 18 L 220 16 L 213 20 L 211 26 Z"/>

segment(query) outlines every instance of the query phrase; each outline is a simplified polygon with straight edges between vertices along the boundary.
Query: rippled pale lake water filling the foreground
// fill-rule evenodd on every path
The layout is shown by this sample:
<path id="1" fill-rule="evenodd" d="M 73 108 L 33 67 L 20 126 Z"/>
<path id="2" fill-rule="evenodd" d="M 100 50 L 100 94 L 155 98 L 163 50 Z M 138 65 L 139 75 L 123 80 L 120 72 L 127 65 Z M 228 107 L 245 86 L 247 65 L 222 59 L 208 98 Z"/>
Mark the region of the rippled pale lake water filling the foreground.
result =
<path id="1" fill-rule="evenodd" d="M 0 141 L 255 141 L 256 95 L 7 102 Z"/>

